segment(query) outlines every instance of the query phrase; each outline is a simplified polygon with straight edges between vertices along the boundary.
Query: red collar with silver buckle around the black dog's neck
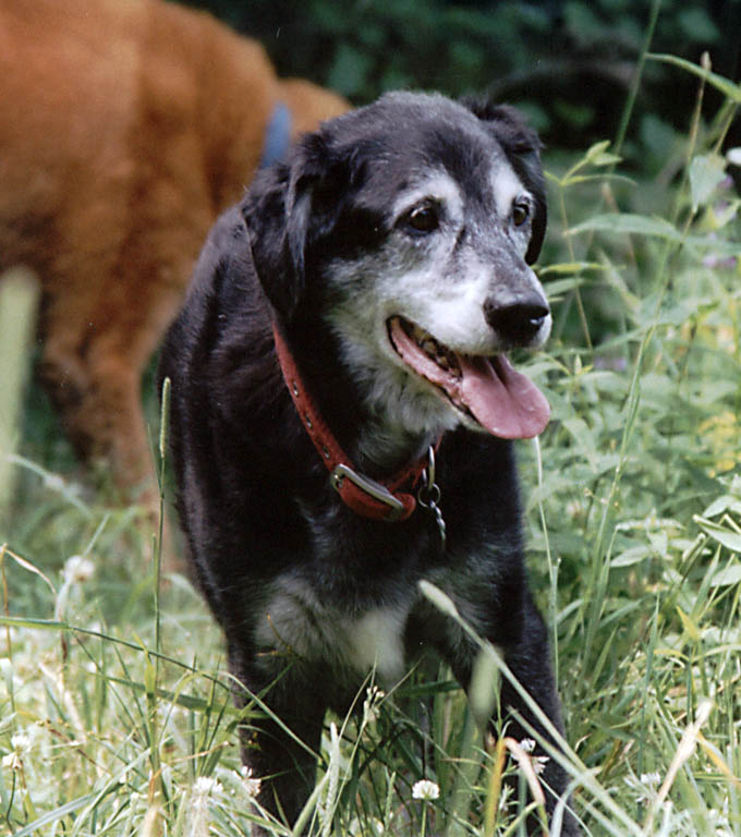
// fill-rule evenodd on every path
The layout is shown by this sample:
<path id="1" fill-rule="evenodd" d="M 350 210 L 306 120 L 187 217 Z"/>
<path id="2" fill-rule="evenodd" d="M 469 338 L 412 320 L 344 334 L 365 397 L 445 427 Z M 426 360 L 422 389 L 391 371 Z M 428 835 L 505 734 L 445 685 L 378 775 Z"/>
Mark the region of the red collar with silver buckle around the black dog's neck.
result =
<path id="1" fill-rule="evenodd" d="M 330 473 L 332 487 L 342 501 L 364 518 L 389 522 L 406 520 L 416 508 L 416 498 L 412 492 L 427 468 L 427 456 L 380 482 L 355 471 L 306 391 L 293 355 L 277 324 L 272 326 L 272 335 L 288 391 L 306 433 Z"/>

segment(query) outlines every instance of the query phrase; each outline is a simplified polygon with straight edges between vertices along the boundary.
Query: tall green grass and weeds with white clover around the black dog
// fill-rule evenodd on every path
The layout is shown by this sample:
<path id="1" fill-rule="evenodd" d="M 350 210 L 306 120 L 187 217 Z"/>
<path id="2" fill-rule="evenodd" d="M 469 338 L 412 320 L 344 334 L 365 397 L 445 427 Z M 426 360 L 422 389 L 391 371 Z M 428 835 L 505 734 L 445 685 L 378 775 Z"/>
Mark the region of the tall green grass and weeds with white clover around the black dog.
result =
<path id="1" fill-rule="evenodd" d="M 554 421 L 521 471 L 593 835 L 741 835 L 741 223 L 717 153 L 740 95 L 696 72 L 725 104 L 707 124 L 688 105 L 655 181 L 607 146 L 546 159 L 556 329 L 530 369 Z M 264 814 L 236 727 L 259 703 L 233 708 L 216 626 L 184 579 L 157 583 L 141 510 L 57 473 L 49 446 L 7 466 L 16 354 L 0 353 L 0 830 L 243 833 Z M 369 680 L 327 719 L 312 834 L 521 834 L 524 773 L 523 793 L 501 783 L 517 748 L 474 723 L 501 677 L 485 647 L 471 706 L 445 670 L 390 694 Z M 437 799 L 415 798 L 423 778 Z"/>

